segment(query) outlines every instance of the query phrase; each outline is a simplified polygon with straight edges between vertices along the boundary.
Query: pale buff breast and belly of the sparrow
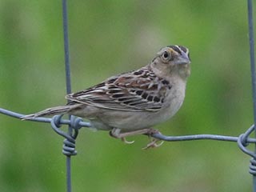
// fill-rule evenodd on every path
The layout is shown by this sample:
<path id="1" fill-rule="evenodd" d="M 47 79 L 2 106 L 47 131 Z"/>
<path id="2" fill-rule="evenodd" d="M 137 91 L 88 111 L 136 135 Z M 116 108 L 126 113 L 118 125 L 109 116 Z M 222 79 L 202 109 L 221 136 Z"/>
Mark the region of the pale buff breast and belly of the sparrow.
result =
<path id="1" fill-rule="evenodd" d="M 162 110 L 157 112 L 127 112 L 98 109 L 94 118 L 87 117 L 98 130 L 110 130 L 119 128 L 124 132 L 150 128 L 158 123 L 165 122 L 182 106 L 185 97 L 186 83 L 174 83 L 170 92 L 166 95 L 166 101 Z M 83 112 L 84 113 L 84 112 Z"/>

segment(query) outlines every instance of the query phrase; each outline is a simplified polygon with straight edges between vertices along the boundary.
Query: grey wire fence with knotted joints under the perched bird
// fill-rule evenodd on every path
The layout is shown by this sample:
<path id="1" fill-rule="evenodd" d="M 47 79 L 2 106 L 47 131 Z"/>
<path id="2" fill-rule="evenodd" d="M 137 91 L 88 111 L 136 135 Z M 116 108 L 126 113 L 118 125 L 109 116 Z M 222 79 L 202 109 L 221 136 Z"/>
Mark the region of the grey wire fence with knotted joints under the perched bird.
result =
<path id="1" fill-rule="evenodd" d="M 254 60 L 254 25 L 253 25 L 253 4 L 252 0 L 247 0 L 248 8 L 248 26 L 249 26 L 249 43 L 250 43 L 250 69 L 251 81 L 253 88 L 253 105 L 254 105 L 254 125 L 256 124 L 256 70 Z M 62 0 L 62 21 L 63 21 L 63 36 L 64 36 L 64 52 L 65 52 L 65 66 L 66 66 L 66 93 L 71 93 L 70 81 L 70 55 L 69 55 L 69 38 L 68 38 L 68 15 L 67 15 L 67 1 Z M 13 118 L 21 118 L 24 114 L 0 108 L 0 114 L 6 114 Z M 66 190 L 71 192 L 71 156 L 76 155 L 75 139 L 78 137 L 78 131 L 82 127 L 90 127 L 90 122 L 84 122 L 82 118 L 69 116 L 68 119 L 63 119 L 62 115 L 55 115 L 53 118 L 33 118 L 29 121 L 46 122 L 50 123 L 53 130 L 61 135 L 64 139 L 62 153 L 66 155 Z M 68 126 L 67 132 L 60 129 L 62 125 Z M 256 138 L 250 138 L 250 134 L 254 133 L 256 127 L 250 126 L 245 133 L 234 136 L 216 135 L 216 134 L 194 134 L 183 136 L 166 136 L 163 134 L 152 134 L 154 138 L 158 138 L 166 142 L 181 142 L 181 141 L 194 141 L 194 140 L 218 140 L 224 142 L 237 142 L 238 147 L 245 153 L 252 157 L 250 159 L 249 172 L 253 174 L 253 191 L 256 192 Z M 250 143 L 255 144 L 255 151 L 248 150 L 247 146 Z"/>

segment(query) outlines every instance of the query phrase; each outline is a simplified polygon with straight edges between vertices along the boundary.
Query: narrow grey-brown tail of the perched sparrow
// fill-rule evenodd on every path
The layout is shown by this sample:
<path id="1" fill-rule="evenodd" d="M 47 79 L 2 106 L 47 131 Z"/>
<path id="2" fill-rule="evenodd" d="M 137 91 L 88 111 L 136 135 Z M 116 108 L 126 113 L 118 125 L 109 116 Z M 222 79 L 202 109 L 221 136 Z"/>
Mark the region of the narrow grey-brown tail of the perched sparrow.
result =
<path id="1" fill-rule="evenodd" d="M 51 108 L 48 108 L 46 110 L 39 111 L 38 113 L 35 114 L 27 114 L 25 116 L 22 116 L 22 120 L 28 120 L 32 118 L 38 118 L 38 117 L 44 117 L 48 115 L 55 115 L 55 114 L 66 114 L 70 110 L 74 110 L 78 106 L 81 106 L 81 104 L 76 104 L 76 105 L 67 105 L 67 106 L 54 106 Z"/>

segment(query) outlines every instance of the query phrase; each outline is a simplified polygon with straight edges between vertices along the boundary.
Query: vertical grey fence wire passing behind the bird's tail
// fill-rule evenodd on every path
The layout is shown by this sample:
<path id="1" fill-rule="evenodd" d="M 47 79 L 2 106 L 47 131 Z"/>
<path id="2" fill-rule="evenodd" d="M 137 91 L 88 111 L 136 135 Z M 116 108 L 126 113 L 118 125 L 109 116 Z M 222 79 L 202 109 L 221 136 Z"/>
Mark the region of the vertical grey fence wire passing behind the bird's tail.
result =
<path id="1" fill-rule="evenodd" d="M 62 22 L 63 22 L 63 36 L 64 36 L 65 71 L 66 71 L 66 94 L 70 94 L 71 93 L 70 51 L 69 51 L 66 0 L 62 0 Z M 70 126 L 69 126 L 68 133 L 72 135 L 72 128 Z M 66 191 L 71 192 L 71 156 L 70 155 L 66 155 Z"/>

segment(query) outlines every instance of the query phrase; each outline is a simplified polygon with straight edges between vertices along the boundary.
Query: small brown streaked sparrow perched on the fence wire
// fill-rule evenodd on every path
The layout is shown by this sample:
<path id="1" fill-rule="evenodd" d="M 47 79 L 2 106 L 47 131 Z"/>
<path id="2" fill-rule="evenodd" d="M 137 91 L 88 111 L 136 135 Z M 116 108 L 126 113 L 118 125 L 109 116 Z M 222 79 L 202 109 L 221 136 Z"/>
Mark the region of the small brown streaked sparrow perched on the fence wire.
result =
<path id="1" fill-rule="evenodd" d="M 72 114 L 88 119 L 97 130 L 110 130 L 114 138 L 130 143 L 127 136 L 159 133 L 152 126 L 177 113 L 189 76 L 189 50 L 185 46 L 166 46 L 148 65 L 68 94 L 66 106 L 55 106 L 22 119 Z M 159 146 L 157 142 L 151 138 L 146 148 Z"/>

